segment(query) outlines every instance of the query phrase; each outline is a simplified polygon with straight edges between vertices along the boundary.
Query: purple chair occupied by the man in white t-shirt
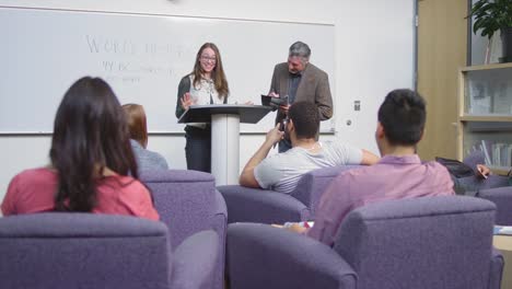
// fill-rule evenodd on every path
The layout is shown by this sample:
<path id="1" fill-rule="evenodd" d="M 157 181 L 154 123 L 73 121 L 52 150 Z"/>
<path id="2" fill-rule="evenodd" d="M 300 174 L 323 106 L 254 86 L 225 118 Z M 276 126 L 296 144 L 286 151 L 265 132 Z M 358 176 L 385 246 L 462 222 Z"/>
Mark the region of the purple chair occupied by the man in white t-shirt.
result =
<path id="1" fill-rule="evenodd" d="M 360 165 L 341 165 L 311 171 L 290 194 L 240 185 L 218 186 L 228 206 L 228 223 L 314 220 L 315 208 L 327 185 L 340 172 Z"/>

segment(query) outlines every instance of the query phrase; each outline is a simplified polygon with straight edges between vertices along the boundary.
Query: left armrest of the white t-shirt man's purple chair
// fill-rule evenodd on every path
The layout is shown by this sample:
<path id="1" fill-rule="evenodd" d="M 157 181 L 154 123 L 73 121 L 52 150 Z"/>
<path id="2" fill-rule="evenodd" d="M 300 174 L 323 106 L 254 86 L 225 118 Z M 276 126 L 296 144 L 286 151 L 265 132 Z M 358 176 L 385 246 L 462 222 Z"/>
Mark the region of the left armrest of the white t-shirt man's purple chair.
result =
<path id="1" fill-rule="evenodd" d="M 292 196 L 237 185 L 218 186 L 228 207 L 228 223 L 283 223 L 304 221 L 310 217 L 307 207 Z"/>

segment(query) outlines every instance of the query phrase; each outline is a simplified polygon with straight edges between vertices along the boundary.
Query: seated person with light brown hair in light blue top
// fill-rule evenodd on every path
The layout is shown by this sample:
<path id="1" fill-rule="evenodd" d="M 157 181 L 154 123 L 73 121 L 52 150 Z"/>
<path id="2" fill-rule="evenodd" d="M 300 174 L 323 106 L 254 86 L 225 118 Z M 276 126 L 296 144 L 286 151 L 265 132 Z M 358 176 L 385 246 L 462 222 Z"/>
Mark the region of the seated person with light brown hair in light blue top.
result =
<path id="1" fill-rule="evenodd" d="M 168 170 L 167 162 L 160 153 L 146 149 L 148 146 L 148 125 L 144 107 L 129 103 L 123 105 L 123 109 L 128 119 L 131 149 L 137 159 L 139 173 L 148 170 Z"/>

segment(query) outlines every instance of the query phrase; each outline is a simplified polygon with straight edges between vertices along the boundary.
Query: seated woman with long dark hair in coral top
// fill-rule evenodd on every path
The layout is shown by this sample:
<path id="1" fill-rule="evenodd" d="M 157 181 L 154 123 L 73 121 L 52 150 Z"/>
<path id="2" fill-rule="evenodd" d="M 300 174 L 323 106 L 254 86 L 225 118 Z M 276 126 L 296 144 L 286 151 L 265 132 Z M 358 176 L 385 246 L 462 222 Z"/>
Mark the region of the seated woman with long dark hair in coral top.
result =
<path id="1" fill-rule="evenodd" d="M 1 205 L 4 216 L 77 211 L 159 219 L 150 192 L 137 180 L 121 106 L 102 79 L 82 78 L 66 92 L 49 157 L 47 167 L 14 176 Z"/>

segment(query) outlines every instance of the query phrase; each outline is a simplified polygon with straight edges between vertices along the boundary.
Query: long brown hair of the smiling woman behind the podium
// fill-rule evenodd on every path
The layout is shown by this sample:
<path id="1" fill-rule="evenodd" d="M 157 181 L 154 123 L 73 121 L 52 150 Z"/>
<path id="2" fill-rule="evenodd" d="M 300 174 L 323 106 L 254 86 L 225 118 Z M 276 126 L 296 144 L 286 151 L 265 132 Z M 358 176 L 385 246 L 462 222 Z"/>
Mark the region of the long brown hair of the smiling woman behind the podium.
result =
<path id="1" fill-rule="evenodd" d="M 216 90 L 219 93 L 219 97 L 225 96 L 230 94 L 230 88 L 228 86 L 228 80 L 225 79 L 224 74 L 224 68 L 222 67 L 222 59 L 220 57 L 220 51 L 219 48 L 217 48 L 217 45 L 212 43 L 205 43 L 201 48 L 199 48 L 199 51 L 197 51 L 196 55 L 196 63 L 194 65 L 194 71 L 191 74 L 194 74 L 194 86 L 197 86 L 199 81 L 202 78 L 202 69 L 201 69 L 201 54 L 202 50 L 206 48 L 211 48 L 216 53 L 216 67 L 211 71 L 211 79 L 213 80 L 213 84 L 216 85 Z"/>

